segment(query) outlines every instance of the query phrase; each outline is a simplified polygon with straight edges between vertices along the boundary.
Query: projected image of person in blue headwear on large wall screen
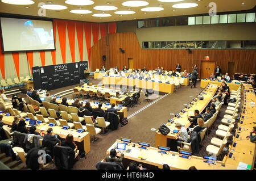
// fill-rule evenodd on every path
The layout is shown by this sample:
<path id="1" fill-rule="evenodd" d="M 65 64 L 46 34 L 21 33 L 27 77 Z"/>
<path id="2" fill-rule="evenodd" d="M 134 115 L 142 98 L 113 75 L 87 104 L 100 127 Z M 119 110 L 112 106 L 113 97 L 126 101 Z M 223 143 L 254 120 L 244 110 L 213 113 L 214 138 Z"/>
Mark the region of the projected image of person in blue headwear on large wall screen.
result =
<path id="1" fill-rule="evenodd" d="M 55 49 L 51 21 L 1 18 L 3 50 Z"/>

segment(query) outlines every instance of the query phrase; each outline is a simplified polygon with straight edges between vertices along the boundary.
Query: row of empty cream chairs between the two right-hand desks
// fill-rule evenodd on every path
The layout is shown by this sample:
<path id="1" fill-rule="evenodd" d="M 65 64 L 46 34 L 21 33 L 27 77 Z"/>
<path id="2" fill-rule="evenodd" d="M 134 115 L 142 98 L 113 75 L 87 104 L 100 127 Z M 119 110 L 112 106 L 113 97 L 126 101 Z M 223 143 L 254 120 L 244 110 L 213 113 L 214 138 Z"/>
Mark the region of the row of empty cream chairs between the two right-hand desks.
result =
<path id="1" fill-rule="evenodd" d="M 236 122 L 236 117 L 238 116 L 238 109 L 241 104 L 241 87 L 237 91 L 233 91 L 232 95 L 236 96 L 236 103 L 229 103 L 225 110 L 226 115 L 224 115 L 221 120 L 221 124 L 218 125 L 216 131 L 216 136 L 210 140 L 210 145 L 207 146 L 206 150 L 208 153 L 220 155 L 224 150 L 225 145 L 228 143 L 228 138 L 232 136 L 232 130 L 234 129 L 234 123 Z"/>

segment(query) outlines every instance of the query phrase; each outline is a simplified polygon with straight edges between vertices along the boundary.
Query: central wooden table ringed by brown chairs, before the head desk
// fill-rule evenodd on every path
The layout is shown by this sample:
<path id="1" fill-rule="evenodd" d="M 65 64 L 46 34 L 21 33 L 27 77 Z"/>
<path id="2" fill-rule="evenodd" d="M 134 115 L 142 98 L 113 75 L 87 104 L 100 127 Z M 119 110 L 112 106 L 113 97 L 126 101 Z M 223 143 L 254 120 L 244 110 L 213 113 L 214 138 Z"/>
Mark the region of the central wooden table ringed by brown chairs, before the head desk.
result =
<path id="1" fill-rule="evenodd" d="M 108 87 L 108 86 L 106 86 Z M 114 89 L 109 89 L 106 87 L 101 87 L 101 86 L 81 86 L 81 87 L 75 87 L 74 89 L 77 89 L 79 91 L 81 91 L 82 89 L 85 91 L 93 91 L 94 93 L 97 94 L 98 91 L 100 91 L 102 94 L 106 94 L 106 92 L 109 92 L 110 94 L 110 98 L 109 98 L 109 102 L 110 104 L 120 104 L 123 100 L 125 100 L 125 98 L 127 96 L 133 96 L 134 94 L 137 94 L 137 91 L 133 91 L 130 90 L 129 92 L 127 92 L 126 94 L 123 94 L 123 92 L 121 92 L 120 90 L 114 90 Z M 117 92 L 119 92 L 119 96 L 117 97 Z"/>

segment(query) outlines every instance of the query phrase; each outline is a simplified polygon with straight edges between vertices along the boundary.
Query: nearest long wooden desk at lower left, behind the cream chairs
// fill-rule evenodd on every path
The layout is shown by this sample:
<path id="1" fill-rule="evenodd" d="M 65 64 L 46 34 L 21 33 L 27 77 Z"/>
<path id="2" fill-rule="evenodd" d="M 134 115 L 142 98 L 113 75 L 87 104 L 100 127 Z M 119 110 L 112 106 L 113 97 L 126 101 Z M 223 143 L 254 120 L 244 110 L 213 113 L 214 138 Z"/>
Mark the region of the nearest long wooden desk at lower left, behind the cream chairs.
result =
<path id="1" fill-rule="evenodd" d="M 5 113 L 1 113 L 0 115 L 3 115 L 3 123 L 7 125 L 12 125 L 14 121 L 14 116 L 6 116 Z M 29 124 L 29 121 L 26 121 L 26 124 Z M 59 134 L 61 138 L 66 138 L 69 133 L 73 135 L 74 141 L 83 143 L 82 149 L 86 153 L 90 152 L 90 134 L 89 132 L 83 132 L 79 133 L 76 131 L 76 129 L 63 129 L 63 127 L 54 126 L 50 127 L 47 123 L 41 123 L 36 125 L 36 132 L 42 132 L 43 134 L 47 134 L 47 129 L 52 128 L 52 135 Z M 77 145 L 79 146 L 79 145 Z"/>

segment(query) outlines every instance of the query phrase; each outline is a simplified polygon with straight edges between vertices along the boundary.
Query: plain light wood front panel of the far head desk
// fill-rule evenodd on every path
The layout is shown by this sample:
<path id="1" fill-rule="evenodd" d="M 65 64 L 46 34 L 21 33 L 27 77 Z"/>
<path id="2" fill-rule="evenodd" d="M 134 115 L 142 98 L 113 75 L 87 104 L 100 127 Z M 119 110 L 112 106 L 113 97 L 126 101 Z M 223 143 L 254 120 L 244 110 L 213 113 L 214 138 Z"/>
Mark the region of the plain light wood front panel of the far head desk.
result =
<path id="1" fill-rule="evenodd" d="M 153 89 L 154 91 L 158 92 L 174 93 L 174 83 L 159 83 L 127 77 L 102 77 L 102 83 L 103 85 L 136 86 L 145 90 Z"/>

